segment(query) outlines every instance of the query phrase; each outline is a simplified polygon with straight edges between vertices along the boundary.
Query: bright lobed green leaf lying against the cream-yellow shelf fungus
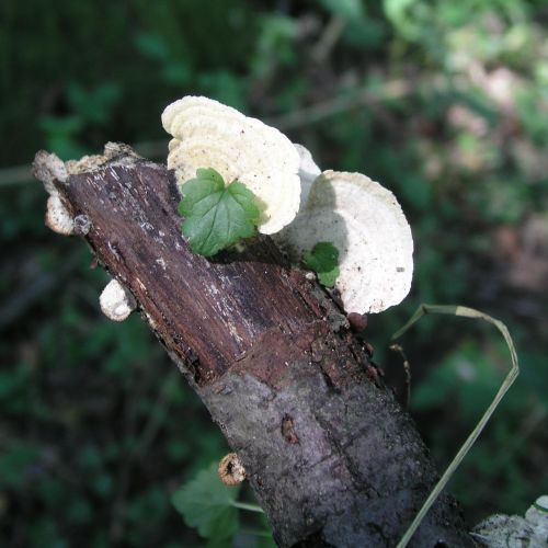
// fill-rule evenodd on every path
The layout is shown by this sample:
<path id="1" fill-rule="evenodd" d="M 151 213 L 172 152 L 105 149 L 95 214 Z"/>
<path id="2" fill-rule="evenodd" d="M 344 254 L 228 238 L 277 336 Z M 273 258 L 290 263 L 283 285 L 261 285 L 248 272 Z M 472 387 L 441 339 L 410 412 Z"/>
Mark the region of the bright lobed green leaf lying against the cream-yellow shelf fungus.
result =
<path id="1" fill-rule="evenodd" d="M 185 217 L 183 235 L 192 251 L 214 255 L 255 235 L 260 210 L 255 195 L 238 181 L 225 185 L 214 169 L 198 169 L 196 179 L 182 186 L 179 213 Z"/>

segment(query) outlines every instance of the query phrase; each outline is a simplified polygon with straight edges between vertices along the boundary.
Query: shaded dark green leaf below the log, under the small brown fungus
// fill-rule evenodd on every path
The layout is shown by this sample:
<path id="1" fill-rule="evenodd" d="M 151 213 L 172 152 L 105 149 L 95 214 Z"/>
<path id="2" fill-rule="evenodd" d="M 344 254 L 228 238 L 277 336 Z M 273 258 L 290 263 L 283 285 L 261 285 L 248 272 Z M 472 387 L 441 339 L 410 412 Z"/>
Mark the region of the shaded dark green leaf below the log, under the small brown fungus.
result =
<path id="1" fill-rule="evenodd" d="M 218 543 L 233 536 L 238 529 L 238 510 L 233 506 L 238 491 L 238 487 L 220 481 L 214 463 L 176 491 L 172 502 L 183 514 L 186 525 Z"/>

